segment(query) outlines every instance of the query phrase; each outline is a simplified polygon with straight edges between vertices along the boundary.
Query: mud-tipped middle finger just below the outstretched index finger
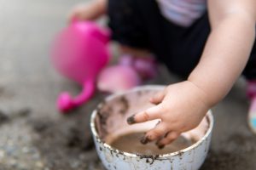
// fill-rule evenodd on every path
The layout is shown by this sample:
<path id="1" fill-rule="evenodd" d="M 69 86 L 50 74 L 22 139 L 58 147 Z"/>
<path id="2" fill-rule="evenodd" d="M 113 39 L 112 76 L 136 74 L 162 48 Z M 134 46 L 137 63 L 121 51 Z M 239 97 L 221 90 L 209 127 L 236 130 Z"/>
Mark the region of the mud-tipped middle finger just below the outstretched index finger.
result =
<path id="1" fill-rule="evenodd" d="M 142 144 L 147 144 L 148 142 L 162 138 L 168 132 L 168 128 L 164 122 L 158 123 L 153 129 L 145 134 L 143 139 L 141 139 Z"/>

